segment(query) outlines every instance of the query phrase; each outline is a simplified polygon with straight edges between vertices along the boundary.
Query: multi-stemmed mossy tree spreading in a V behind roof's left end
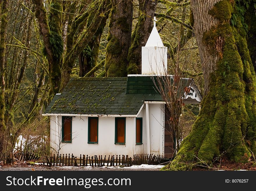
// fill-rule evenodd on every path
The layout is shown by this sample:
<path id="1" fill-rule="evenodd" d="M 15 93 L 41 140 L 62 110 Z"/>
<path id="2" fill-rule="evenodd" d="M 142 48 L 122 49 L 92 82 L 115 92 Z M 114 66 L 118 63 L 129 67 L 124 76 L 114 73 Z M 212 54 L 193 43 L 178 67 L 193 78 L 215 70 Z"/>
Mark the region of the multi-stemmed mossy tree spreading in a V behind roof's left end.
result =
<path id="1" fill-rule="evenodd" d="M 83 2 L 81 2 L 76 11 L 77 16 L 70 16 L 71 20 L 67 19 L 67 16 L 62 17 L 63 3 L 65 1 L 51 0 L 48 16 L 42 0 L 33 0 L 33 3 L 49 64 L 50 94 L 54 95 L 62 91 L 69 82 L 71 70 L 78 55 L 95 35 L 102 19 L 110 9 L 110 3 L 109 0 L 95 0 L 88 6 L 83 5 Z M 69 3 L 65 4 L 67 5 L 65 10 L 70 10 L 72 14 L 77 9 L 76 4 L 76 1 L 73 1 L 70 5 Z M 95 14 L 93 14 L 90 25 L 85 28 L 88 15 L 91 12 L 95 12 Z M 64 28 L 67 30 L 64 30 L 64 35 L 62 35 L 63 21 Z M 66 42 L 65 53 L 63 51 L 63 36 L 64 39 L 66 38 L 64 40 Z"/>

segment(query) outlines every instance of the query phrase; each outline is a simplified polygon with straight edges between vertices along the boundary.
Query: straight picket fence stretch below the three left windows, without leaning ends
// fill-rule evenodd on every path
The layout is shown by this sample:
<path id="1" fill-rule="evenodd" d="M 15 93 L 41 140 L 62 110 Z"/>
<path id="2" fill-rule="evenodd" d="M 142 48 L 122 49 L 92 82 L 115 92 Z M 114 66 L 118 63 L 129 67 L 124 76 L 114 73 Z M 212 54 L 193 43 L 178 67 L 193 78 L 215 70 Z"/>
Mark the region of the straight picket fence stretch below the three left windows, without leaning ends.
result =
<path id="1" fill-rule="evenodd" d="M 123 166 L 123 167 L 131 167 L 133 165 L 132 158 L 128 155 L 109 155 L 108 157 L 102 155 L 81 155 L 80 158 L 75 157 L 73 154 L 59 155 L 58 154 L 53 157 L 48 158 L 45 156 L 47 160 L 47 165 L 49 166 L 92 166 L 92 167 L 103 167 L 103 166 Z"/>

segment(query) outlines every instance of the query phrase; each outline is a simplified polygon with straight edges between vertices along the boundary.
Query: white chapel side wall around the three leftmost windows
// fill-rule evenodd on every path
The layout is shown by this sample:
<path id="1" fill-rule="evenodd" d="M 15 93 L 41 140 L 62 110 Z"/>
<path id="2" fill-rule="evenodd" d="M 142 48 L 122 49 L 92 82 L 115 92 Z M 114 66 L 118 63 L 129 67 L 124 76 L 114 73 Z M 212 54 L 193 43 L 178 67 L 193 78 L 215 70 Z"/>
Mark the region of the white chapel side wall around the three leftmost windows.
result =
<path id="1" fill-rule="evenodd" d="M 132 157 L 135 149 L 136 118 L 126 118 L 126 144 L 115 144 L 115 117 L 99 117 L 98 144 L 88 144 L 88 117 L 72 117 L 72 143 L 59 142 L 62 117 L 58 116 L 56 128 L 55 117 L 51 117 L 51 147 L 61 154 L 113 155 L 124 154 Z M 53 150 L 54 151 L 54 150 Z"/>

